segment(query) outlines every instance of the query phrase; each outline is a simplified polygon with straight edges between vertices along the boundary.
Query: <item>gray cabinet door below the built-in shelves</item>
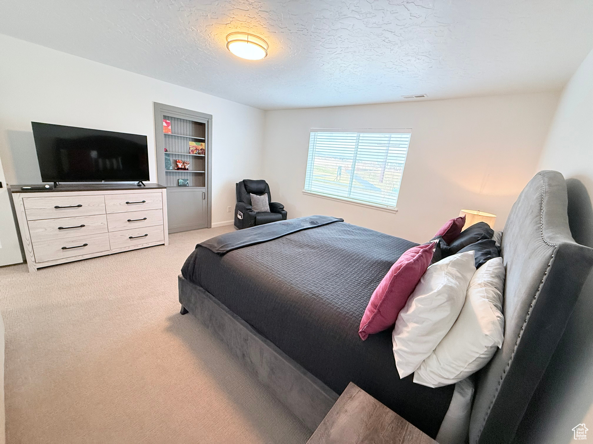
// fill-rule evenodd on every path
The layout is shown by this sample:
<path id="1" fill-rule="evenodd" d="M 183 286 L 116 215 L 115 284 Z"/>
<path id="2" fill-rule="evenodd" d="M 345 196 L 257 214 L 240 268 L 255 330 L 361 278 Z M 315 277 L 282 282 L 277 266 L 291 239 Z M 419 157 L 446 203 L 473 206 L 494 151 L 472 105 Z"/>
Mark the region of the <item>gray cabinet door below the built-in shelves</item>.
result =
<path id="1" fill-rule="evenodd" d="M 208 226 L 206 188 L 167 188 L 169 233 Z"/>

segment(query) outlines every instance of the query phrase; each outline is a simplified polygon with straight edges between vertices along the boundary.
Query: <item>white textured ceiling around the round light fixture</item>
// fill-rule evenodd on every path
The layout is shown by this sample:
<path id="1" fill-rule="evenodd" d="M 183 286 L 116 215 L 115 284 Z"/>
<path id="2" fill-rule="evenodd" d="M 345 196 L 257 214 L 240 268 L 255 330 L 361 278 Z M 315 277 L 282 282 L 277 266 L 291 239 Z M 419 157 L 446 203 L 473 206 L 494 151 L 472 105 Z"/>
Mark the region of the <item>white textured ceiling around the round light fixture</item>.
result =
<path id="1" fill-rule="evenodd" d="M 591 0 L 0 0 L 0 33 L 262 109 L 560 89 Z M 232 56 L 225 36 L 266 38 Z"/>

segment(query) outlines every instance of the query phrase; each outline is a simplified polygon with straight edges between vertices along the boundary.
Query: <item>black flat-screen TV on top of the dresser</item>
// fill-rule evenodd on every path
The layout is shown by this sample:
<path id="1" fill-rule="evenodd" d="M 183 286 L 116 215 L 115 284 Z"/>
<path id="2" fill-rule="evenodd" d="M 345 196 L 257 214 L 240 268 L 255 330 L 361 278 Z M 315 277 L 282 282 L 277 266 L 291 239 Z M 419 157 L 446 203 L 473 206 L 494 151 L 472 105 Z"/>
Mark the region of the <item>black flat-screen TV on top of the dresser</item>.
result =
<path id="1" fill-rule="evenodd" d="M 31 122 L 43 182 L 148 181 L 146 136 Z"/>

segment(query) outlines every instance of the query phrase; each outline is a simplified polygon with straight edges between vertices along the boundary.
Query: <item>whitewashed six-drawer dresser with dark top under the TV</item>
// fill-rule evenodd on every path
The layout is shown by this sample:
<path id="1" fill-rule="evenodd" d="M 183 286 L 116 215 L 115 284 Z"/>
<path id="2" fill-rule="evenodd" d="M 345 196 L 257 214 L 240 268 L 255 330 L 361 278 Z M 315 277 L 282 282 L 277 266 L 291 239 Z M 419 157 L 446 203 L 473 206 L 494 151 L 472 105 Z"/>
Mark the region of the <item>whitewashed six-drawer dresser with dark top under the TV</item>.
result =
<path id="1" fill-rule="evenodd" d="M 12 199 L 30 272 L 74 260 L 168 244 L 167 188 L 59 185 Z"/>

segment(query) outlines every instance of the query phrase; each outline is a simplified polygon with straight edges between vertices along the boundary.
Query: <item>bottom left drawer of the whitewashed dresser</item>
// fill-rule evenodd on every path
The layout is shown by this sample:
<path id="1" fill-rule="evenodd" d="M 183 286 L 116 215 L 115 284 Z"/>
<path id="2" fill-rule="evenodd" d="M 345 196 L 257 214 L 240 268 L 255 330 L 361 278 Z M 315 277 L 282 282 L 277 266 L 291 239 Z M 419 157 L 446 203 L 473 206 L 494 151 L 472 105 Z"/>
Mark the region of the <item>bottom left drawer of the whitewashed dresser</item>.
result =
<path id="1" fill-rule="evenodd" d="M 108 250 L 109 234 L 107 233 L 33 242 L 35 262 L 72 258 Z"/>

